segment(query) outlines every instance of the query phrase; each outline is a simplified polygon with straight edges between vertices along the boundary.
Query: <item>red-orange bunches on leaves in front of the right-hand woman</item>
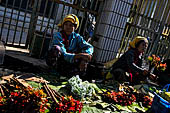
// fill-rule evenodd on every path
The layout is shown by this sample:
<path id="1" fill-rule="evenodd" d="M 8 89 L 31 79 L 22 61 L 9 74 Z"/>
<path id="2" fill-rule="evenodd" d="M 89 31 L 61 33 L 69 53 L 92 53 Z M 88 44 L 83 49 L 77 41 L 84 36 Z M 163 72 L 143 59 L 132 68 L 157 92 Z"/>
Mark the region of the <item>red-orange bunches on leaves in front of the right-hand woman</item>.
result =
<path id="1" fill-rule="evenodd" d="M 133 87 L 121 86 L 121 91 L 106 91 L 102 94 L 103 100 L 121 106 L 131 105 L 133 102 L 142 102 L 145 107 L 152 105 L 152 98 L 137 92 Z"/>

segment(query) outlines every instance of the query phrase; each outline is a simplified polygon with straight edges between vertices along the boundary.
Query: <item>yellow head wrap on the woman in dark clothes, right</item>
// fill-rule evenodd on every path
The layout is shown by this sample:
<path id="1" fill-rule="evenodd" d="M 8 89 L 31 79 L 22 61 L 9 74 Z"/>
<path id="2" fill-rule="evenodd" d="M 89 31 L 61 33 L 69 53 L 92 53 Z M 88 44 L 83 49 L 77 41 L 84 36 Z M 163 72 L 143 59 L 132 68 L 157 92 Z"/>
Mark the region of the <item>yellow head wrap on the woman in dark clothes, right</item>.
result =
<path id="1" fill-rule="evenodd" d="M 145 41 L 146 43 L 148 43 L 147 38 L 142 37 L 142 36 L 136 36 L 136 37 L 133 39 L 133 41 L 131 41 L 131 42 L 129 43 L 129 48 L 136 48 L 136 44 L 137 44 L 139 41 L 141 41 L 141 40 L 143 40 L 143 41 Z"/>

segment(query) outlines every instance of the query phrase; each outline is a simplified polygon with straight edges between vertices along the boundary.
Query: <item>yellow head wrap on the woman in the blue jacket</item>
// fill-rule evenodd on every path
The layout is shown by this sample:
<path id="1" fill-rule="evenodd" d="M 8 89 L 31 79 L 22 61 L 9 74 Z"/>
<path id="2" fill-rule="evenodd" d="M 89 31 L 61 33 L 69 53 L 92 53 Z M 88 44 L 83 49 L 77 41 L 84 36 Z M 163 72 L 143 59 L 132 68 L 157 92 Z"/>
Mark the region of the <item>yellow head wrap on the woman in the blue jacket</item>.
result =
<path id="1" fill-rule="evenodd" d="M 63 24 L 64 24 L 65 22 L 67 22 L 67 21 L 75 24 L 75 25 L 76 25 L 76 28 L 75 28 L 75 29 L 77 29 L 77 28 L 79 27 L 79 19 L 78 19 L 78 17 L 77 17 L 76 15 L 74 15 L 74 14 L 69 14 L 69 15 L 67 15 L 67 16 L 63 19 L 63 21 L 62 21 L 60 24 L 58 24 L 58 27 L 62 27 Z"/>

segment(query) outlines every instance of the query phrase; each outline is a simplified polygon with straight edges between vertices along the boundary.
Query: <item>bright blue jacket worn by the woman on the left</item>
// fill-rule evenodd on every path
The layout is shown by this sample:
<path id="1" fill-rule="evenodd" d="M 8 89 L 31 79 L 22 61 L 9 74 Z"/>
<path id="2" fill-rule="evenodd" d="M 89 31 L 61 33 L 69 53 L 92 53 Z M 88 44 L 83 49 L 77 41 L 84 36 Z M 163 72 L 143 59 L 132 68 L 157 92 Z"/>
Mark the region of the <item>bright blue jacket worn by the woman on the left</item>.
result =
<path id="1" fill-rule="evenodd" d="M 69 46 L 66 48 L 63 44 L 62 34 L 60 32 L 55 32 L 51 43 L 51 47 L 54 45 L 59 45 L 61 47 L 61 52 L 66 61 L 73 63 L 76 53 L 88 53 L 89 55 L 93 54 L 93 46 L 87 43 L 79 34 L 72 32 L 72 34 L 68 36 L 68 40 Z"/>

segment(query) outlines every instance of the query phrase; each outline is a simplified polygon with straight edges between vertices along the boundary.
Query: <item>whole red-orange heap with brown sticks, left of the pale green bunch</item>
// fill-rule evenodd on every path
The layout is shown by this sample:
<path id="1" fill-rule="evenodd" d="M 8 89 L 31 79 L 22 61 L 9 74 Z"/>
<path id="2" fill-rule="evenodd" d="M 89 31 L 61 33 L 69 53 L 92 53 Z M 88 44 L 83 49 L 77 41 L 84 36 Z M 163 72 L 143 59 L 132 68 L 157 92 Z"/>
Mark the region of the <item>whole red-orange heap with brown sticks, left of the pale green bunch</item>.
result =
<path id="1" fill-rule="evenodd" d="M 19 79 L 12 77 L 0 84 L 0 111 L 17 113 L 60 113 L 81 112 L 83 104 L 72 96 L 61 95 L 47 83 L 41 87 L 25 86 Z"/>

